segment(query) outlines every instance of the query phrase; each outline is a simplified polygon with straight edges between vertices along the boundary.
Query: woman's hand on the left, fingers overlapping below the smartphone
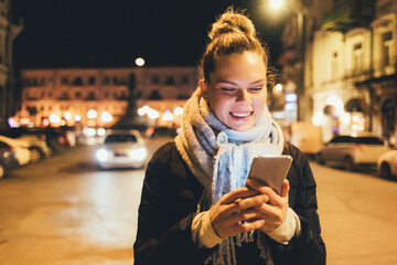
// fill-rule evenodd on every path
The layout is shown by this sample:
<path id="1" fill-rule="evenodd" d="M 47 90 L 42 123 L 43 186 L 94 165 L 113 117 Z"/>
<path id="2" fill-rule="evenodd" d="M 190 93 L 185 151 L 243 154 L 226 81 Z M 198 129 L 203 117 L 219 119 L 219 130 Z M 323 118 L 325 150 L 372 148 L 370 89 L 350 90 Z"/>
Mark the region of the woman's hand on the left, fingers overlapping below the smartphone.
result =
<path id="1" fill-rule="evenodd" d="M 261 209 L 269 201 L 267 194 L 258 194 L 247 187 L 236 189 L 225 195 L 210 209 L 210 219 L 215 233 L 221 239 L 249 232 L 266 225 Z M 260 216 L 259 216 L 260 215 Z"/>

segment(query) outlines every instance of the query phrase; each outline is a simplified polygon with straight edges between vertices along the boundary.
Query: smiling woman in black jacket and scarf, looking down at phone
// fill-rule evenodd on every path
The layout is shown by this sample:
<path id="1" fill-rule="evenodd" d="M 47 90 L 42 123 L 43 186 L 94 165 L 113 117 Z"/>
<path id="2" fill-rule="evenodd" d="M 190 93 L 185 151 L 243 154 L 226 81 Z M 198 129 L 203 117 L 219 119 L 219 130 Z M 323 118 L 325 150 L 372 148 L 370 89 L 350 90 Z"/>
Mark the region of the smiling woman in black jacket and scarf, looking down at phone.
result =
<path id="1" fill-rule="evenodd" d="M 315 182 L 268 112 L 256 35 L 233 10 L 213 24 L 183 131 L 148 163 L 136 264 L 325 264 Z M 281 153 L 293 162 L 280 194 L 247 180 L 255 156 Z"/>

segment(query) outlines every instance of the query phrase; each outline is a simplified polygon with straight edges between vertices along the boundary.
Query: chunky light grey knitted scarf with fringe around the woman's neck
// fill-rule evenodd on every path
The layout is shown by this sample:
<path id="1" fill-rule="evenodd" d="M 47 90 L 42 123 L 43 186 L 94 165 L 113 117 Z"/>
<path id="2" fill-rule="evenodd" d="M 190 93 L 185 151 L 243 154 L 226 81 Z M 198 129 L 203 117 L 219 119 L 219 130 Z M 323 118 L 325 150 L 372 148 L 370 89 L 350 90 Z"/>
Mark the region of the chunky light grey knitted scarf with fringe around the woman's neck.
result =
<path id="1" fill-rule="evenodd" d="M 200 211 L 210 210 L 224 194 L 245 187 L 254 157 L 282 152 L 282 131 L 267 108 L 250 130 L 233 130 L 210 110 L 200 88 L 184 106 L 182 129 L 175 138 L 175 145 L 204 187 Z M 257 231 L 225 239 L 207 263 L 237 264 L 235 246 L 254 242 L 255 239 L 260 255 L 267 264 L 272 264 L 266 236 Z"/>

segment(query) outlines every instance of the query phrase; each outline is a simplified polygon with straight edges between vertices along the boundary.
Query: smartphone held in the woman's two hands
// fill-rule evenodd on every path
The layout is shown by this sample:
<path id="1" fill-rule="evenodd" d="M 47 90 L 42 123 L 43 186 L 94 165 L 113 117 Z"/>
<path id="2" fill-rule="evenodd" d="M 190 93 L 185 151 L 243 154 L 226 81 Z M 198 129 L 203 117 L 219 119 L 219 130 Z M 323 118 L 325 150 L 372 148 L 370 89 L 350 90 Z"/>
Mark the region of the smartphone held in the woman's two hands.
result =
<path id="1" fill-rule="evenodd" d="M 255 157 L 249 169 L 248 179 L 258 180 L 273 189 L 277 194 L 280 194 L 282 182 L 291 163 L 292 157 L 288 155 Z"/>

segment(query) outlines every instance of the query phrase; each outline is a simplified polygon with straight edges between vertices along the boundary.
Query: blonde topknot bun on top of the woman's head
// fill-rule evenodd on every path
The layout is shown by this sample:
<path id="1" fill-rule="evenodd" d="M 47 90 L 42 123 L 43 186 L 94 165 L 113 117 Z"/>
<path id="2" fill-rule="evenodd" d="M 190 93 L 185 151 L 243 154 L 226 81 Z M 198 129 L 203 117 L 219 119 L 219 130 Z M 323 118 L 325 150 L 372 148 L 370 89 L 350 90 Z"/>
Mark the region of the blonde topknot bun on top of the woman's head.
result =
<path id="1" fill-rule="evenodd" d="M 213 41 L 215 38 L 227 33 L 244 33 L 251 38 L 256 36 L 253 22 L 244 14 L 235 13 L 233 10 L 227 10 L 213 23 L 208 38 Z"/>

